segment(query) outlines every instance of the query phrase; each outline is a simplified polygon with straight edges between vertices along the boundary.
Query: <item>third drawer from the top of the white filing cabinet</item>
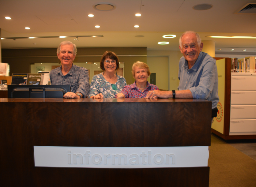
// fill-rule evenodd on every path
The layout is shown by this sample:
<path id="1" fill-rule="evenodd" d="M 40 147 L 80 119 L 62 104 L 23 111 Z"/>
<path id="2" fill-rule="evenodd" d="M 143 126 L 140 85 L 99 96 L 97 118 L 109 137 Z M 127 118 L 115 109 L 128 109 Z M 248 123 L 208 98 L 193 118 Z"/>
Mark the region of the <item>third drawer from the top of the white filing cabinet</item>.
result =
<path id="1" fill-rule="evenodd" d="M 256 119 L 256 105 L 231 105 L 230 119 Z"/>

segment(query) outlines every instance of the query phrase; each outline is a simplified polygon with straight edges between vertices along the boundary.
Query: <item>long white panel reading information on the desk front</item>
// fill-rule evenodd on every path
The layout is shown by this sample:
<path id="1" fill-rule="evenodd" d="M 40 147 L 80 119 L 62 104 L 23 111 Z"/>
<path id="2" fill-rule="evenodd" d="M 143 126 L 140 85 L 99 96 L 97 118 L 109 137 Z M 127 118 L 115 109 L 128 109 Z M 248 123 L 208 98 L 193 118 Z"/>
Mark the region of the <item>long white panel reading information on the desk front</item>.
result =
<path id="1" fill-rule="evenodd" d="M 208 146 L 132 148 L 34 146 L 35 167 L 207 167 L 208 158 Z"/>

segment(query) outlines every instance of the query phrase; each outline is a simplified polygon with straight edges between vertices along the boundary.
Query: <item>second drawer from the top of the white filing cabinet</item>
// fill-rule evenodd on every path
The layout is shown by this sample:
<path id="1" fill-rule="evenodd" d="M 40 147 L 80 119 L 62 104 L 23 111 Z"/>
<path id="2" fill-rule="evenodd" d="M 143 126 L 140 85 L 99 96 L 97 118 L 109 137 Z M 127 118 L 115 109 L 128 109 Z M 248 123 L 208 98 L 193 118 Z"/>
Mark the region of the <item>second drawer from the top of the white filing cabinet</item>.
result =
<path id="1" fill-rule="evenodd" d="M 231 104 L 256 104 L 256 91 L 231 90 Z"/>

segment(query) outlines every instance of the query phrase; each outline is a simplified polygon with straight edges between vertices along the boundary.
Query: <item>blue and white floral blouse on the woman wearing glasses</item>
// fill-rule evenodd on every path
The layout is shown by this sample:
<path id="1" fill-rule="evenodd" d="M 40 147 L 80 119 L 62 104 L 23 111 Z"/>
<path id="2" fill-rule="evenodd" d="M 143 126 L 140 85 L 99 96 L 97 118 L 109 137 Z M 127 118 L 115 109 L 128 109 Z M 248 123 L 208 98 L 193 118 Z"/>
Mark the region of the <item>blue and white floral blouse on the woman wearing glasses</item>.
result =
<path id="1" fill-rule="evenodd" d="M 91 80 L 90 94 L 88 98 L 91 96 L 96 96 L 100 93 L 104 96 L 104 98 L 114 98 L 116 94 L 123 90 L 125 85 L 125 78 L 119 75 L 117 75 L 117 81 L 115 84 L 111 84 L 106 81 L 102 73 L 94 75 L 93 80 Z"/>

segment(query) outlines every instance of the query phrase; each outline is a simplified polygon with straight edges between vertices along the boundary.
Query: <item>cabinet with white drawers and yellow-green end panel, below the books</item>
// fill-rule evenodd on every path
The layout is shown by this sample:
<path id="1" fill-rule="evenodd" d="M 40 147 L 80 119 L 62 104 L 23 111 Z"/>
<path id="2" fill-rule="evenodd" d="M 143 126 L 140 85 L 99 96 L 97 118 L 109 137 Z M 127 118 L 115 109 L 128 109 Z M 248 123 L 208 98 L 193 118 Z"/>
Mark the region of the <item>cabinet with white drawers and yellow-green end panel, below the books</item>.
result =
<path id="1" fill-rule="evenodd" d="M 233 58 L 215 59 L 219 103 L 212 133 L 225 140 L 256 139 L 256 73 L 231 72 Z"/>

